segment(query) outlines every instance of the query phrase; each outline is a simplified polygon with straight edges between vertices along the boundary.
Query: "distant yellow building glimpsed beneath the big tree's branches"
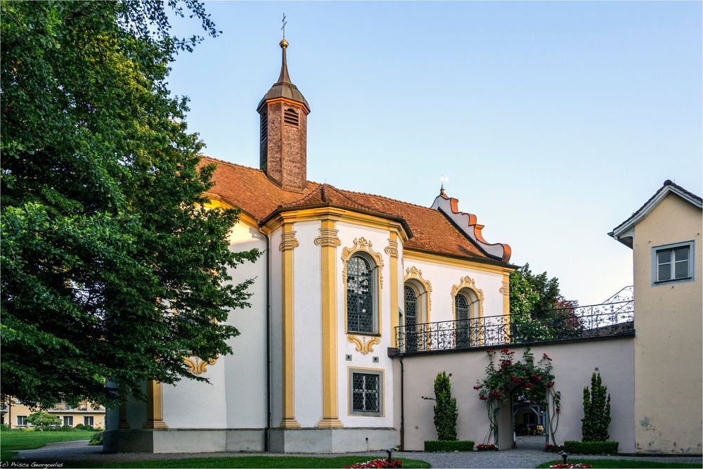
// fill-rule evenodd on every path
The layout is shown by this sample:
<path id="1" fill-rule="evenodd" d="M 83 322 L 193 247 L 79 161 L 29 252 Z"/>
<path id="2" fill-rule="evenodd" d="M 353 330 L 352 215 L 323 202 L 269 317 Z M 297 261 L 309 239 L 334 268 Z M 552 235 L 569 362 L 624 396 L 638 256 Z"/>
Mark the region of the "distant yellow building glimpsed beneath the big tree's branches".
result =
<path id="1" fill-rule="evenodd" d="M 2 404 L 0 407 L 0 423 L 13 428 L 27 428 L 27 417 L 38 409 L 32 409 L 16 399 L 11 399 L 10 404 Z M 89 425 L 93 428 L 105 428 L 105 408 L 102 406 L 93 407 L 87 401 L 81 402 L 77 406 L 70 406 L 65 402 L 60 402 L 51 409 L 46 409 L 52 415 L 61 419 L 60 425 L 75 427 L 76 425 Z"/>

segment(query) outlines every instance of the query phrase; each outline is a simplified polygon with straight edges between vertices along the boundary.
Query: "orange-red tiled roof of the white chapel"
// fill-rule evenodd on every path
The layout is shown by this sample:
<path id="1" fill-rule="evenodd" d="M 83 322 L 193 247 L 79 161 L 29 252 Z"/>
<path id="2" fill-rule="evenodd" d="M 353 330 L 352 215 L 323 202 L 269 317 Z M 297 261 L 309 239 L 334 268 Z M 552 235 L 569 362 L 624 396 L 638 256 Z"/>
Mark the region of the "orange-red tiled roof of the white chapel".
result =
<path id="1" fill-rule="evenodd" d="M 406 248 L 510 265 L 484 254 L 439 210 L 380 195 L 344 191 L 312 181 L 307 182 L 302 193 L 284 191 L 260 169 L 209 157 L 203 157 L 202 162 L 217 164 L 213 175 L 216 185 L 209 193 L 240 208 L 259 222 L 270 217 L 273 212 L 320 205 L 346 207 L 404 221 L 411 231 L 411 238 L 405 243 Z"/>

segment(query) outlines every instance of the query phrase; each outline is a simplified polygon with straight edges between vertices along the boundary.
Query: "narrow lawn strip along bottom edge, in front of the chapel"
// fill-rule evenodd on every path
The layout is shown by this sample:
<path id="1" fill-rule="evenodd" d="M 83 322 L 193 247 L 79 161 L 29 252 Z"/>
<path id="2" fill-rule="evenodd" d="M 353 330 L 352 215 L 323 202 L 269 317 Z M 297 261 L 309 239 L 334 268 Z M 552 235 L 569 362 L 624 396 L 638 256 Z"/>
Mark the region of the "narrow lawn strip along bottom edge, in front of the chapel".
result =
<path id="1" fill-rule="evenodd" d="M 153 459 L 129 463 L 91 463 L 92 468 L 343 468 L 345 465 L 375 459 L 375 456 L 309 458 L 297 456 L 238 456 L 234 458 Z M 416 459 L 400 459 L 404 468 L 430 468 Z M 88 466 L 86 466 L 88 467 Z"/>

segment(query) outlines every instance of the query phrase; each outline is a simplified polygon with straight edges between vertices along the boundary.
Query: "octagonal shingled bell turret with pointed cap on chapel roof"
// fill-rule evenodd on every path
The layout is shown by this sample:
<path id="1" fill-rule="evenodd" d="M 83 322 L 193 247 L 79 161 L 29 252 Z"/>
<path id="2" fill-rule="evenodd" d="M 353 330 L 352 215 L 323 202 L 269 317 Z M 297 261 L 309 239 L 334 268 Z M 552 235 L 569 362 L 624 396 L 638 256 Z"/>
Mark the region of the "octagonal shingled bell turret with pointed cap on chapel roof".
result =
<path id="1" fill-rule="evenodd" d="M 266 176 L 286 191 L 302 192 L 307 181 L 307 115 L 310 107 L 290 82 L 285 49 L 278 81 L 259 102 L 260 167 Z"/>

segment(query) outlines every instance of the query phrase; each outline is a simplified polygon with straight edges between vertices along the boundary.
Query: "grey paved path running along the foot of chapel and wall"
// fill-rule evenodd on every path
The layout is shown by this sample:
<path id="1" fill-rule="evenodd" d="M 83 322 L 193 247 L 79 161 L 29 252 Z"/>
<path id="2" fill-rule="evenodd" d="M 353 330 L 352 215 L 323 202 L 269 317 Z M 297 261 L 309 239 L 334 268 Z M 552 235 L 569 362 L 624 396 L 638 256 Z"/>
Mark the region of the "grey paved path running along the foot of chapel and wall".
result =
<path id="1" fill-rule="evenodd" d="M 144 461 L 159 459 L 184 458 L 221 458 L 238 456 L 282 456 L 272 453 L 200 453 L 200 454 L 147 454 L 118 453 L 103 454 L 103 446 L 86 446 L 86 442 L 66 442 L 47 444 L 41 449 L 19 451 L 14 461 L 29 463 L 63 463 L 70 468 L 77 462 L 120 463 L 127 461 Z M 373 455 L 385 458 L 385 453 L 365 452 L 359 456 Z M 287 454 L 285 456 L 340 456 L 338 454 Z M 456 453 L 424 453 L 415 451 L 396 451 L 396 458 L 411 458 L 427 461 L 433 468 L 534 468 L 536 465 L 559 458 L 557 454 L 543 453 L 534 449 L 508 449 L 505 451 L 469 451 Z M 660 461 L 675 463 L 702 463 L 700 457 L 684 456 L 584 456 L 589 459 L 632 459 L 634 461 Z"/>

